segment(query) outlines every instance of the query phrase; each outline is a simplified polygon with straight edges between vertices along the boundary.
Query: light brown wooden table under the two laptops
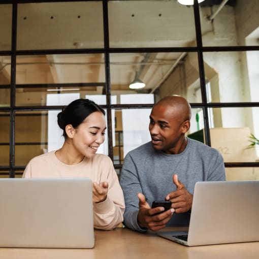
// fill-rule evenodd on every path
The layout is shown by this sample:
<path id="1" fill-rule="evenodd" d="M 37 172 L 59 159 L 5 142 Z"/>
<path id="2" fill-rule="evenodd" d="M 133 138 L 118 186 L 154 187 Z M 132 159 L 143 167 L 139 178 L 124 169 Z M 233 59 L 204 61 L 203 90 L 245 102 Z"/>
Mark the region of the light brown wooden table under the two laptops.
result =
<path id="1" fill-rule="evenodd" d="M 0 248 L 0 258 L 258 259 L 259 242 L 186 247 L 158 237 L 155 233 L 141 234 L 117 228 L 113 231 L 95 231 L 95 246 L 92 249 Z"/>

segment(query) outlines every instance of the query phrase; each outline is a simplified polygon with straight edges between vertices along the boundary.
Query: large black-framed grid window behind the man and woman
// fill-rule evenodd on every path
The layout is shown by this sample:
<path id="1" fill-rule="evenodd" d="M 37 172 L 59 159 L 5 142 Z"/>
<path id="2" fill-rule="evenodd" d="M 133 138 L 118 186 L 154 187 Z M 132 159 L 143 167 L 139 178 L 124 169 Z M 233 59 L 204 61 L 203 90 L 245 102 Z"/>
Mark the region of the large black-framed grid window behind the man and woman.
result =
<path id="1" fill-rule="evenodd" d="M 60 145 L 51 147 L 51 121 L 78 97 L 107 111 L 103 153 L 119 174 L 125 154 L 149 140 L 153 103 L 179 94 L 192 108 L 187 135 L 222 153 L 227 179 L 259 179 L 258 147 L 247 149 L 259 137 L 258 2 L 221 3 L 2 1 L 0 177 L 20 177 Z M 145 87 L 130 89 L 135 79 Z M 125 116 L 136 113 L 143 124 L 130 127 Z"/>

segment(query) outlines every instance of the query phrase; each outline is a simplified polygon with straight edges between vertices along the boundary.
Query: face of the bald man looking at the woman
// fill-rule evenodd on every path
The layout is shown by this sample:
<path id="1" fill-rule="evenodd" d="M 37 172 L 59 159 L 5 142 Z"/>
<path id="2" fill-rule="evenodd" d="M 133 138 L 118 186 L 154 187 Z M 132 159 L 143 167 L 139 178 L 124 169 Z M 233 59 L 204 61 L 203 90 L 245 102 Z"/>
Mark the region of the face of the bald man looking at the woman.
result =
<path id="1" fill-rule="evenodd" d="M 155 105 L 150 114 L 149 132 L 153 147 L 167 154 L 174 154 L 182 145 L 184 132 L 182 116 L 174 107 Z"/>

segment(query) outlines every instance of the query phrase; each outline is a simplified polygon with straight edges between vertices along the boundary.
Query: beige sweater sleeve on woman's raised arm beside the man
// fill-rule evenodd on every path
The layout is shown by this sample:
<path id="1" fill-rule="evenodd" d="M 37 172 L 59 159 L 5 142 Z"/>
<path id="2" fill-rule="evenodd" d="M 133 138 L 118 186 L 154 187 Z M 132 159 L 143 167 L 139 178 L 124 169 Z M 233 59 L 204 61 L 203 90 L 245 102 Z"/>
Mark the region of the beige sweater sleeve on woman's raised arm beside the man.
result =
<path id="1" fill-rule="evenodd" d="M 109 165 L 105 165 L 103 168 L 104 171 L 107 171 L 107 178 L 104 179 L 103 176 L 101 178 L 102 182 L 107 181 L 109 184 L 107 198 L 104 202 L 93 204 L 95 229 L 112 230 L 123 221 L 125 210 L 123 192 L 112 161 L 110 159 L 109 161 Z"/>

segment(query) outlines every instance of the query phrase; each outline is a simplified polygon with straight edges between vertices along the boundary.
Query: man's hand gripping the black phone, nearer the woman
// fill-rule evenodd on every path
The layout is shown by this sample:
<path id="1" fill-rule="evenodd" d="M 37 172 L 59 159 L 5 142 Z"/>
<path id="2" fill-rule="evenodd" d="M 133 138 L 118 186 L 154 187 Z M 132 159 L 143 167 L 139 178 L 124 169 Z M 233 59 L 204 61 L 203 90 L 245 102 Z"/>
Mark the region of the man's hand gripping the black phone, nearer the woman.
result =
<path id="1" fill-rule="evenodd" d="M 151 231 L 158 231 L 165 228 L 166 223 L 170 220 L 174 213 L 174 209 L 167 210 L 163 207 L 156 207 L 151 209 L 146 202 L 146 198 L 142 193 L 138 193 L 139 198 L 139 214 L 138 224 L 142 229 L 149 229 Z M 159 214 L 157 214 L 159 213 Z"/>

